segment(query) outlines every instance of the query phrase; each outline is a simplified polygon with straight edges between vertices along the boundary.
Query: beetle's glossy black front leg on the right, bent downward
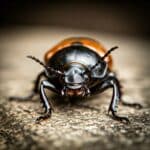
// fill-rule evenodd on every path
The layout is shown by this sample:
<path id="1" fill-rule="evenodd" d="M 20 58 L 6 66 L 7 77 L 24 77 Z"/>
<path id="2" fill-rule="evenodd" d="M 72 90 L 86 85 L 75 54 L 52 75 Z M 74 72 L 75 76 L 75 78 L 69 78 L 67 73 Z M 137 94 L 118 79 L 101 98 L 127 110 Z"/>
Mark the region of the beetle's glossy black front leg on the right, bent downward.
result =
<path id="1" fill-rule="evenodd" d="M 91 89 L 91 93 L 94 93 L 94 94 L 100 93 L 100 92 L 105 91 L 108 88 L 113 89 L 113 96 L 112 96 L 112 100 L 111 100 L 108 112 L 111 111 L 114 119 L 116 120 L 129 122 L 128 118 L 118 116 L 116 114 L 118 102 L 121 99 L 121 92 L 120 92 L 119 81 L 117 80 L 115 76 L 106 77 L 100 84 L 98 84 L 96 87 Z"/>

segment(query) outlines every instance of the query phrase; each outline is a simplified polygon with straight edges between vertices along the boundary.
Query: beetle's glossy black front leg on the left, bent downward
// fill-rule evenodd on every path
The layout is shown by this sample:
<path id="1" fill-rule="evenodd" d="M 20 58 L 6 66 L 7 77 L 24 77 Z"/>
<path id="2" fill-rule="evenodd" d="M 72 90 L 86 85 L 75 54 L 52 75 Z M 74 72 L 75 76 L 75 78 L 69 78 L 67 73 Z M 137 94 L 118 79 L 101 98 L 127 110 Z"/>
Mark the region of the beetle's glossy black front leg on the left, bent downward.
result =
<path id="1" fill-rule="evenodd" d="M 54 110 L 54 107 L 53 107 L 53 104 L 51 103 L 51 101 L 48 102 L 48 98 L 45 93 L 45 88 L 58 93 L 58 90 L 56 89 L 56 87 L 53 84 L 51 84 L 50 82 L 48 82 L 46 80 L 41 82 L 40 98 L 43 103 L 43 107 L 45 108 L 45 113 L 44 113 L 44 115 L 38 117 L 37 121 L 49 118 L 51 116 L 52 110 Z"/>

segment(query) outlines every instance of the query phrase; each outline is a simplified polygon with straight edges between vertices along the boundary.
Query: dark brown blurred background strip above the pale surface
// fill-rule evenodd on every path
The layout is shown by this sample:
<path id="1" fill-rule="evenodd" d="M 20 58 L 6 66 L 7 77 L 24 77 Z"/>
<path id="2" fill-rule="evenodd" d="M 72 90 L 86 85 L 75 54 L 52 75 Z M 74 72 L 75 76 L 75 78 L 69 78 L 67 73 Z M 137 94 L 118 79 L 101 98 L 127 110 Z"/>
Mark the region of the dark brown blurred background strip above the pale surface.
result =
<path id="1" fill-rule="evenodd" d="M 149 1 L 1 0 L 1 28 L 49 26 L 149 37 Z"/>

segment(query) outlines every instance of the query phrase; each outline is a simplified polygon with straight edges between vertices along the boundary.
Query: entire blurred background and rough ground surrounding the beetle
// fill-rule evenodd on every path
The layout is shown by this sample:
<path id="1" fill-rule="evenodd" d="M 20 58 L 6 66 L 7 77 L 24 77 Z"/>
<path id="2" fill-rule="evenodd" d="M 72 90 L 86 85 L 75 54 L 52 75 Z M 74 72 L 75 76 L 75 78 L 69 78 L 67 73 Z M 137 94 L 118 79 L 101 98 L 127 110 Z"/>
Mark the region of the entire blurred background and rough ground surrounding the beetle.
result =
<path id="1" fill-rule="evenodd" d="M 58 106 L 41 125 L 34 123 L 42 112 L 39 98 L 8 102 L 9 96 L 28 94 L 43 69 L 26 56 L 43 60 L 49 48 L 70 36 L 97 39 L 106 49 L 119 46 L 112 55 L 123 98 L 147 106 L 120 107 L 130 125 L 107 115 L 111 90 L 86 102 L 98 112 Z M 148 0 L 0 0 L 0 149 L 149 150 L 149 56 Z"/>

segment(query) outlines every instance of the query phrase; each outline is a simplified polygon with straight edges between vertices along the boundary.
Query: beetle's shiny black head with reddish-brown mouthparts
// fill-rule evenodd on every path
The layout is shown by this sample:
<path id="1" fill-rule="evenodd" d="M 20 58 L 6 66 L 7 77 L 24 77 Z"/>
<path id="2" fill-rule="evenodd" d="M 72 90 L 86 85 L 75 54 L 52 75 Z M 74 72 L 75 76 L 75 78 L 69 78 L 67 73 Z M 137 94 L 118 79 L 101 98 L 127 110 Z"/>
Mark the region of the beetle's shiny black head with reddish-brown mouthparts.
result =
<path id="1" fill-rule="evenodd" d="M 68 96 L 84 96 L 85 86 L 88 84 L 89 77 L 84 74 L 86 68 L 80 63 L 71 63 L 65 67 L 64 85 Z"/>

